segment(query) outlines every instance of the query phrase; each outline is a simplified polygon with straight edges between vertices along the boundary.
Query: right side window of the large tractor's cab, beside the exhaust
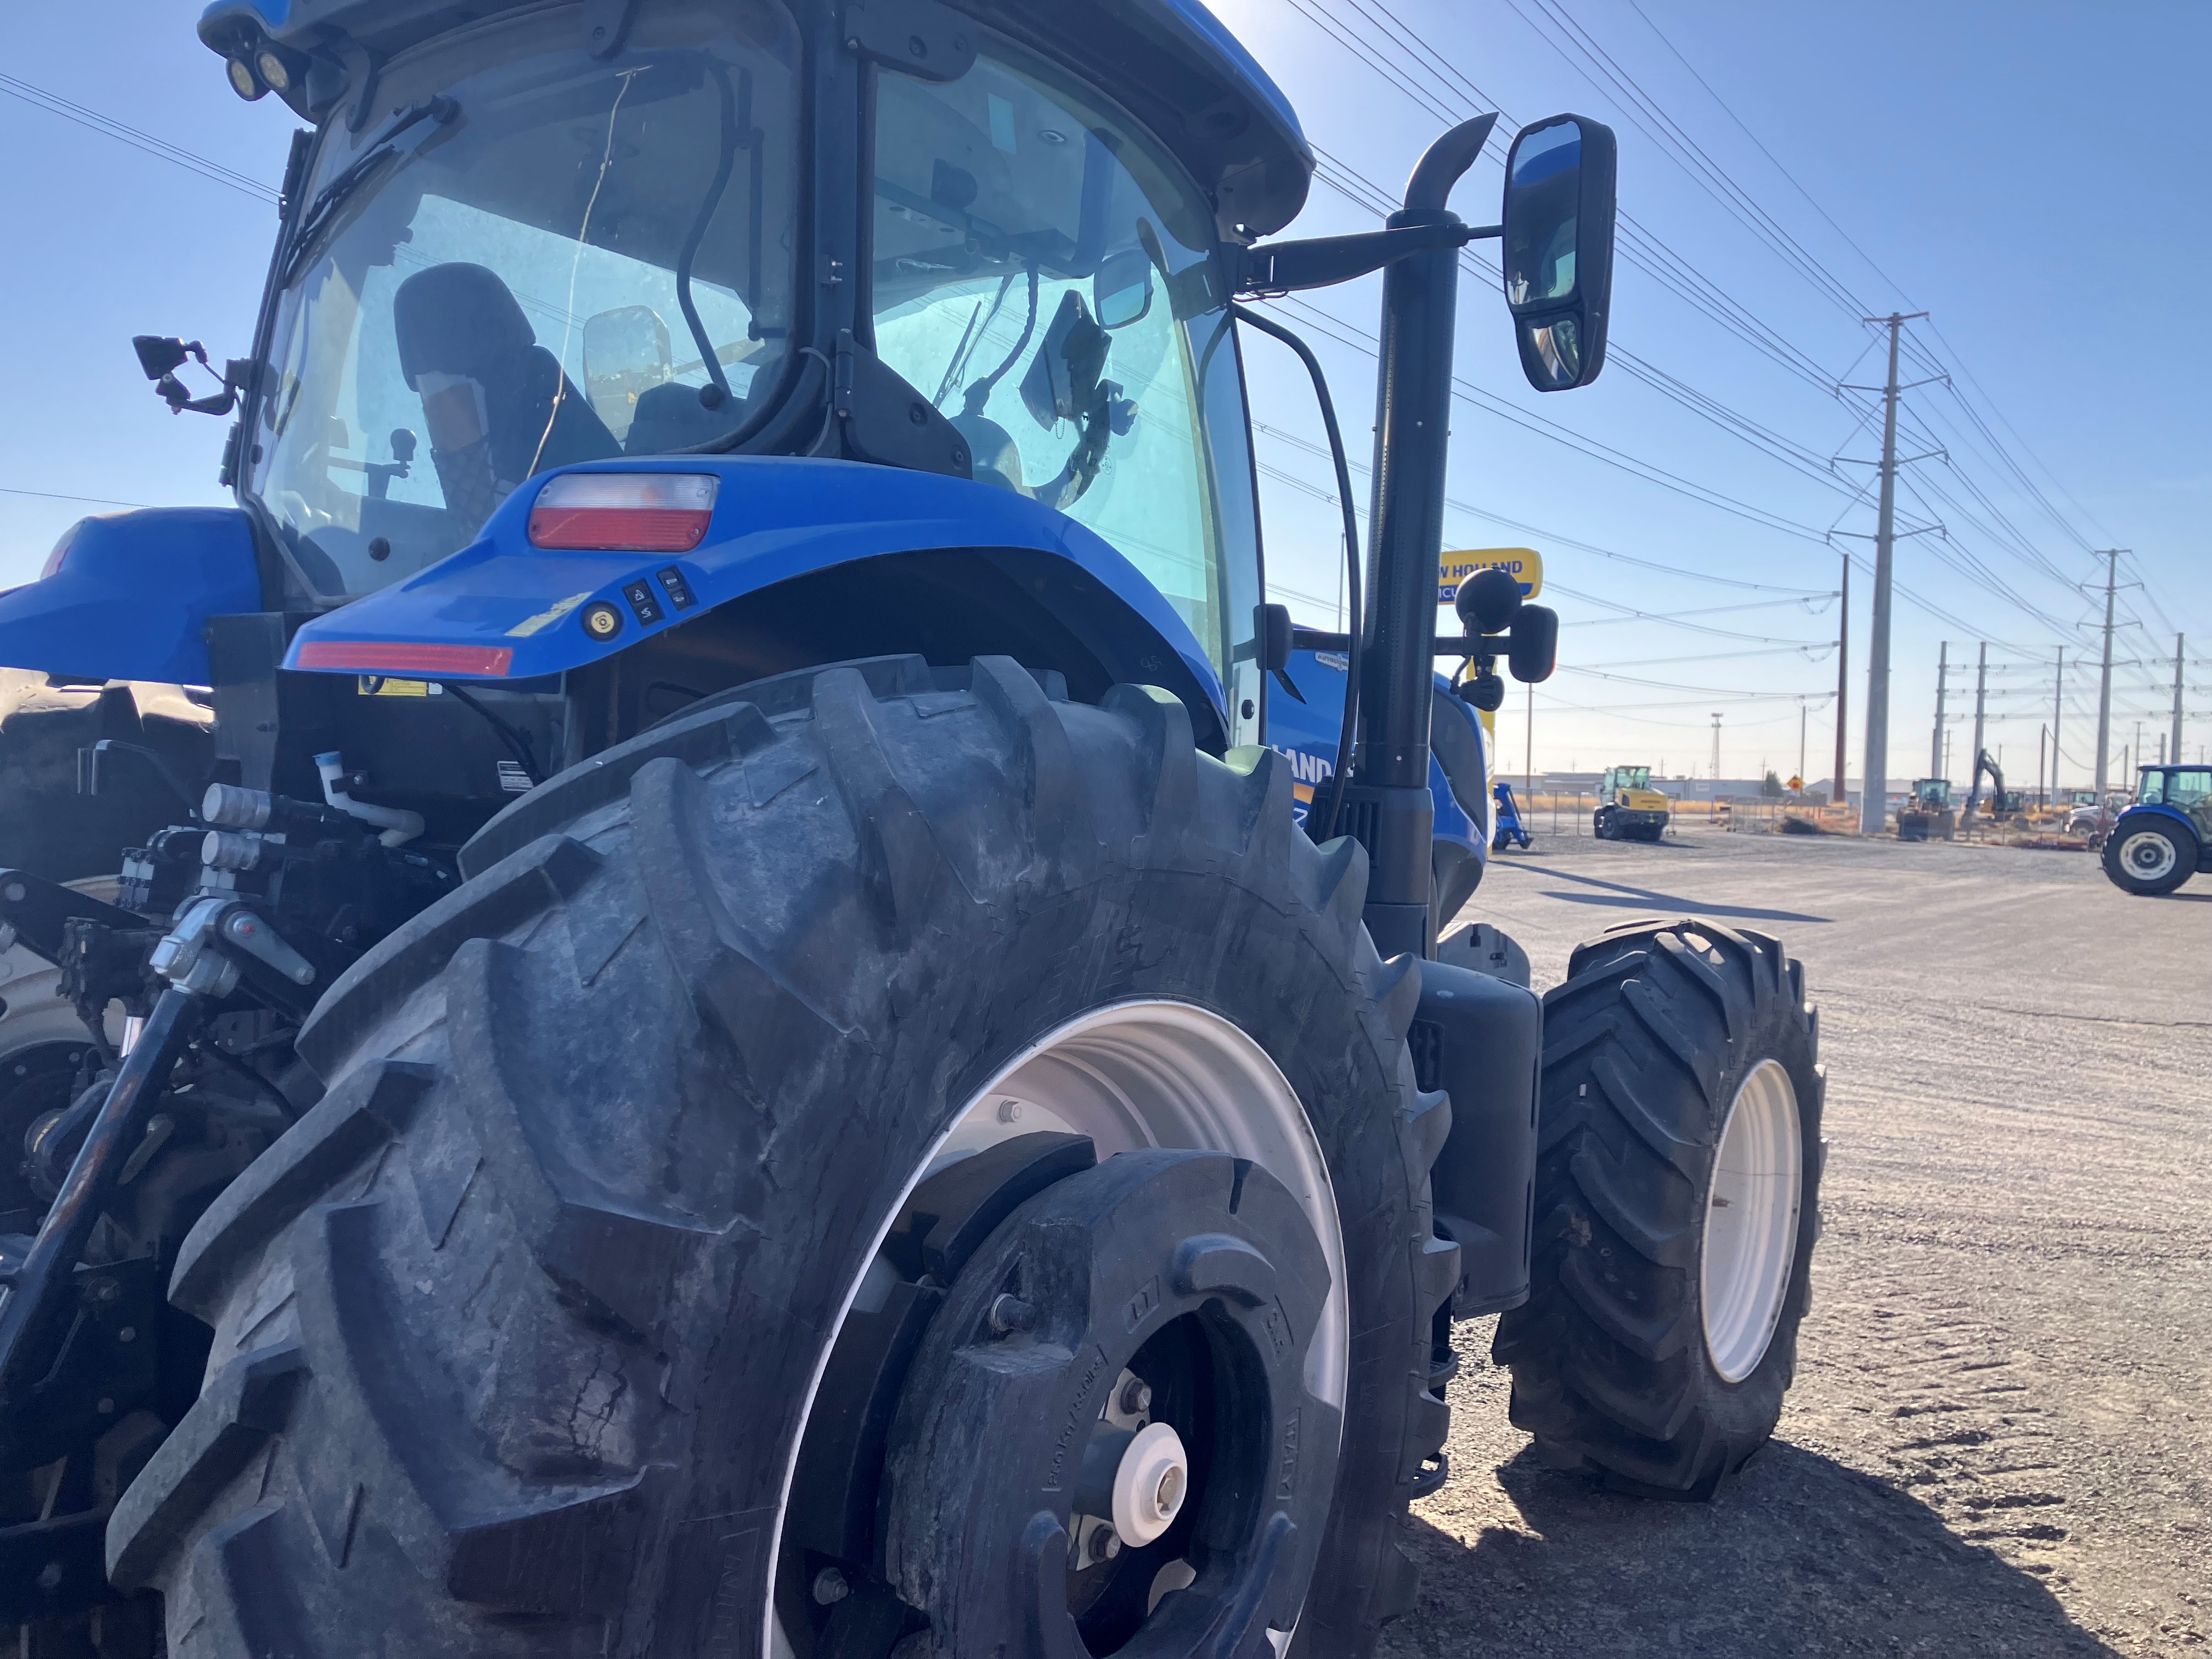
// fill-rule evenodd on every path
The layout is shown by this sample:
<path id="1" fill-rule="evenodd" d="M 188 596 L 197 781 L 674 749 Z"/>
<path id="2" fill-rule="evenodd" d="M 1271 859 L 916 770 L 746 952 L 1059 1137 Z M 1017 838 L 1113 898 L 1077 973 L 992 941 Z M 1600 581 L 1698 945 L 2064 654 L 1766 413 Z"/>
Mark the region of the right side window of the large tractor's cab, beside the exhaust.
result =
<path id="1" fill-rule="evenodd" d="M 1128 115 L 1011 46 L 878 77 L 876 352 L 987 484 L 1057 507 L 1259 695 L 1259 526 L 1212 206 Z"/>

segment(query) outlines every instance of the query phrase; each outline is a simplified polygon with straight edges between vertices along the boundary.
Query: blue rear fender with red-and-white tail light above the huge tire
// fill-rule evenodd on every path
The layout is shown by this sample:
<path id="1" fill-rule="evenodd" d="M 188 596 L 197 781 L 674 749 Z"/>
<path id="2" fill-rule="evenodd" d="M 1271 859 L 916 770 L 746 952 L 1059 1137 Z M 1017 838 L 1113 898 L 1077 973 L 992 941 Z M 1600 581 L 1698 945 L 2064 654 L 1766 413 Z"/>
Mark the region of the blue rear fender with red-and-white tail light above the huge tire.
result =
<path id="1" fill-rule="evenodd" d="M 721 489 L 706 540 L 690 553 L 549 553 L 529 544 L 529 515 L 538 491 L 564 471 L 712 473 Z M 1228 719 L 1221 677 L 1183 617 L 1135 564 L 1073 518 L 967 478 L 794 456 L 653 456 L 542 473 L 509 495 L 480 540 L 460 553 L 310 622 L 294 637 L 285 666 L 303 666 L 310 646 L 376 641 L 507 648 L 513 653 L 507 677 L 557 675 L 774 582 L 933 549 L 982 549 L 1013 571 L 1053 562 L 1053 575 L 1068 577 L 1048 584 L 1066 606 L 1060 619 L 1093 644 L 1102 661 L 1155 684 L 1175 679 L 1181 664 L 1188 690 Z M 635 582 L 659 591 L 659 573 L 670 566 L 699 604 L 688 611 L 661 606 L 657 622 L 639 624 L 622 591 Z M 1135 611 L 1137 628 L 1099 639 L 1113 617 L 1084 602 L 1084 577 Z M 595 599 L 615 604 L 626 619 L 611 641 L 584 633 L 582 611 Z"/>

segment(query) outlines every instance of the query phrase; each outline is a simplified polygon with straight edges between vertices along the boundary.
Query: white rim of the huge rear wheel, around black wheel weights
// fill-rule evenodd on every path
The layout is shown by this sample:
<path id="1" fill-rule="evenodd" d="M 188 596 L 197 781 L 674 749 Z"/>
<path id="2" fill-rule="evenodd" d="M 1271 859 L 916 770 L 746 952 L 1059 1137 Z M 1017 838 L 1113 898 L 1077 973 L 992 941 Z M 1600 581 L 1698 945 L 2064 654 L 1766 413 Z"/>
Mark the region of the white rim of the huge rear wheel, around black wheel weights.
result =
<path id="1" fill-rule="evenodd" d="M 1099 1164 L 1119 1152 L 1159 1146 L 1230 1152 L 1274 1175 L 1296 1199 L 1329 1265 L 1329 1292 L 1303 1374 L 1307 1391 L 1336 1407 L 1340 1418 L 1352 1352 L 1343 1228 L 1327 1161 L 1296 1091 L 1250 1035 L 1208 1009 L 1168 1000 L 1115 1002 L 1057 1026 L 1009 1060 L 969 1097 L 909 1175 L 876 1232 L 872 1265 L 845 1292 L 836 1327 L 807 1385 L 801 1433 L 792 1440 L 783 1473 L 776 1555 L 805 1422 L 814 1413 L 830 1354 L 852 1310 L 889 1294 L 896 1281 L 883 1245 L 907 1197 L 958 1159 L 1040 1130 L 1088 1135 Z M 770 1582 L 779 1571 L 776 1555 L 770 1557 Z M 1276 1650 L 1287 1637 L 1287 1630 L 1276 1637 Z M 774 1597 L 765 1644 L 772 1657 L 794 1652 Z"/>

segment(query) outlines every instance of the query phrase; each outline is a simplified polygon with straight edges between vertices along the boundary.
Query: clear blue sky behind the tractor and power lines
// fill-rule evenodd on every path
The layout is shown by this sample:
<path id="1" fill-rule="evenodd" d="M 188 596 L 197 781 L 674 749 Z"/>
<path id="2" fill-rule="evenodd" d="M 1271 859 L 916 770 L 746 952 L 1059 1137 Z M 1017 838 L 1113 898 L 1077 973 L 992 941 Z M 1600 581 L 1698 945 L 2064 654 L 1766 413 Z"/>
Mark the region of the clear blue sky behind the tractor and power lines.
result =
<path id="1" fill-rule="evenodd" d="M 1944 522 L 1951 540 L 1898 544 L 1900 582 L 1929 608 L 1898 599 L 1891 776 L 1929 763 L 1938 641 L 1951 641 L 1953 664 L 1969 664 L 1951 681 L 1951 710 L 1964 714 L 1975 644 L 1986 637 L 1989 741 L 2002 745 L 2015 779 L 2033 783 L 2053 650 L 2064 644 L 2068 664 L 2086 668 L 2095 650 L 2084 624 L 2101 615 L 2101 595 L 2093 602 L 2073 584 L 2099 577 L 2088 549 L 2115 544 L 2132 549 L 2121 577 L 2143 584 L 2124 591 L 2119 606 L 2130 626 L 2117 650 L 2126 666 L 2115 765 L 2139 717 L 2154 750 L 2170 706 L 2174 628 L 2190 633 L 2192 657 L 2212 659 L 2203 557 L 2212 319 L 2199 301 L 2212 252 L 2201 188 L 2212 135 L 2190 115 L 2212 62 L 2212 9 L 1641 7 L 1217 0 L 1292 95 L 1316 146 L 1389 195 L 1442 122 L 1478 102 L 1517 119 L 1571 108 L 1619 133 L 1621 206 L 1639 226 L 1641 259 L 1628 259 L 1624 241 L 1613 321 L 1621 352 L 1599 385 L 1531 394 L 1500 301 L 1473 276 L 1462 290 L 1458 372 L 1491 405 L 1462 403 L 1455 414 L 1451 495 L 1537 529 L 1464 511 L 1447 526 L 1460 546 L 1531 544 L 1546 557 L 1548 597 L 1566 619 L 1566 670 L 1537 690 L 1537 768 L 1705 770 L 1719 710 L 1723 774 L 1759 765 L 1787 774 L 1798 752 L 1794 692 L 1809 692 L 1820 701 L 1807 717 L 1807 772 L 1827 774 L 1836 608 L 1801 595 L 1836 586 L 1838 553 L 1818 540 L 1823 531 L 1874 529 L 1871 491 L 1849 498 L 1869 469 L 1838 467 L 1838 489 L 1823 467 L 1834 453 L 1874 456 L 1878 427 L 1860 425 L 1865 400 L 1816 385 L 1880 378 L 1858 307 L 1933 312 L 1933 330 L 1916 325 L 1909 336 L 1920 363 L 1907 363 L 1907 378 L 1942 367 L 1955 385 L 1907 398 L 1907 453 L 1933 440 L 1951 462 L 1909 469 L 1900 509 L 1909 522 Z M 290 113 L 276 100 L 230 95 L 192 35 L 195 15 L 197 7 L 159 0 L 102 7 L 97 73 L 88 75 L 82 9 L 9 7 L 0 64 L 20 82 L 274 184 Z M 1316 18 L 1349 42 L 1332 40 Z M 1363 62 L 1360 51 L 1380 62 Z M 274 212 L 7 86 L 0 146 L 13 166 L 0 201 L 13 234 L 0 261 L 0 314 L 15 330 L 7 356 L 18 392 L 0 400 L 0 582 L 15 582 L 35 573 L 77 515 L 113 511 L 53 495 L 219 500 L 223 422 L 168 416 L 137 376 L 128 336 L 197 336 L 217 361 L 241 352 Z M 1641 111 L 1637 97 L 1648 100 Z M 1703 181 L 1690 170 L 1697 155 L 1712 168 Z M 1486 217 L 1495 190 L 1498 170 L 1484 164 L 1458 206 Z M 1756 215 L 1765 215 L 1765 239 L 1745 226 Z M 1363 223 L 1371 223 L 1365 208 L 1316 186 L 1298 228 Z M 1774 250 L 1781 237 L 1803 250 L 1812 274 Z M 1710 285 L 1705 310 L 1756 323 L 1721 327 L 1661 276 L 1674 288 Z M 1363 451 L 1374 369 L 1327 334 L 1371 334 L 1376 288 L 1312 305 L 1279 314 L 1321 349 Z M 1745 341 L 1754 327 L 1765 349 Z M 1336 593 L 1334 513 L 1310 489 L 1327 484 L 1327 467 L 1298 447 L 1318 438 L 1318 422 L 1303 376 L 1285 374 L 1276 356 L 1265 341 L 1250 349 L 1254 398 L 1274 429 L 1256 440 L 1270 469 L 1270 575 L 1279 588 L 1312 595 L 1292 604 L 1323 619 Z M 1686 389 L 1666 396 L 1655 378 Z M 1515 425 L 1526 418 L 1555 427 Z M 1741 436 L 1745 422 L 1756 442 Z M 1646 476 L 1562 438 L 1608 447 Z M 1708 500 L 1652 482 L 1655 469 Z M 1741 511 L 1712 504 L 1712 493 Z M 1869 555 L 1863 540 L 1838 546 Z M 1854 776 L 1867 588 L 1854 573 Z M 2185 739 L 2194 759 L 2212 743 L 2212 661 L 2190 666 L 2188 677 L 2197 686 Z M 1522 708 L 1515 688 L 1500 726 L 1515 768 Z M 2086 781 L 2093 714 L 2095 675 L 2068 670 L 2068 783 Z M 1949 772 L 1960 783 L 1966 750 L 1958 721 Z"/>

